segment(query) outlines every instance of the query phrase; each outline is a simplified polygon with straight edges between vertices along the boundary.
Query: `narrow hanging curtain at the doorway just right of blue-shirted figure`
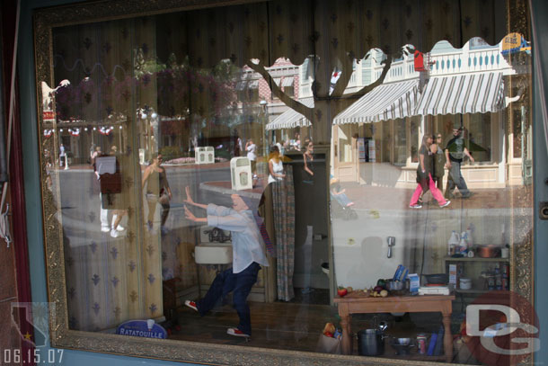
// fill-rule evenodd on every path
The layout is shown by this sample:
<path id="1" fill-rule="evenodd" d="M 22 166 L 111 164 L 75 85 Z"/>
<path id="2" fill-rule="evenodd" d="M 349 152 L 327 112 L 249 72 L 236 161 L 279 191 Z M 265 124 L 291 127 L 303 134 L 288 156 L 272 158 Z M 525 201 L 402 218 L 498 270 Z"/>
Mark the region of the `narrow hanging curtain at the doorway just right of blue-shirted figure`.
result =
<path id="1" fill-rule="evenodd" d="M 272 210 L 276 233 L 278 299 L 289 301 L 295 297 L 293 272 L 295 267 L 295 190 L 293 166 L 285 166 L 282 182 L 270 183 Z"/>

